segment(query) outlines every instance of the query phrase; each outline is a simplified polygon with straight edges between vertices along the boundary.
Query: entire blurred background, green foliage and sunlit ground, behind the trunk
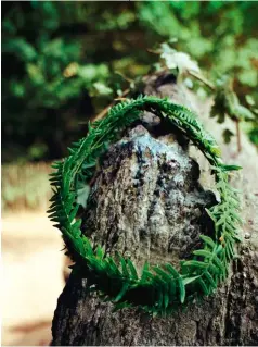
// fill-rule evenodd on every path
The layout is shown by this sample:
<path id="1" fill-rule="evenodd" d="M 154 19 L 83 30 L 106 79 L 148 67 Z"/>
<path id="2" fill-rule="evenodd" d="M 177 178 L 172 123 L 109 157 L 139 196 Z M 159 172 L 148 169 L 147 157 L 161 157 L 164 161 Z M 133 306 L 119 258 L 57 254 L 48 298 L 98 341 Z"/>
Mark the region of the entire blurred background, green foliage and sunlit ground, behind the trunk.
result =
<path id="1" fill-rule="evenodd" d="M 62 240 L 48 221 L 50 163 L 87 120 L 158 69 L 160 44 L 205 76 L 229 74 L 257 104 L 256 2 L 5 1 L 2 5 L 2 255 L 4 345 L 48 345 L 64 286 Z M 194 89 L 205 96 L 202 85 Z M 257 110 L 256 110 L 257 111 Z M 258 146 L 256 117 L 243 128 Z"/>

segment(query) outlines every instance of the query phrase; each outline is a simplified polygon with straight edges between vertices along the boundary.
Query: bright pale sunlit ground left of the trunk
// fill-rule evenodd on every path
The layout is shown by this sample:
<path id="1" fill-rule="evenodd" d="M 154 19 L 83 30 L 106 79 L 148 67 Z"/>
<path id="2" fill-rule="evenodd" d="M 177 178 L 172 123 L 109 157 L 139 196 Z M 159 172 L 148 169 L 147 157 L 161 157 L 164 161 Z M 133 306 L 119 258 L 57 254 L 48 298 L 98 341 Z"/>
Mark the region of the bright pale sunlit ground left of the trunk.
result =
<path id="1" fill-rule="evenodd" d="M 62 248 L 46 213 L 2 215 L 2 346 L 50 344 L 64 287 Z"/>

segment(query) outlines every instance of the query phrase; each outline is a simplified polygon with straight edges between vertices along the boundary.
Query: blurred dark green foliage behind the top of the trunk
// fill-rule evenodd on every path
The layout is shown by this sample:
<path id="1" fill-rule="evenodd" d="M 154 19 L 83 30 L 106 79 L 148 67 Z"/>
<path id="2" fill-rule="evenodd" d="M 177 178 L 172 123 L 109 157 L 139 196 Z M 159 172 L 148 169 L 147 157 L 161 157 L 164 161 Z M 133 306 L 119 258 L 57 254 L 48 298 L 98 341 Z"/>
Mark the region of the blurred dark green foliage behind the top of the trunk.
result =
<path id="1" fill-rule="evenodd" d="M 241 102 L 249 95 L 257 104 L 257 9 L 249 1 L 2 2 L 3 162 L 64 156 L 86 133 L 82 123 L 157 62 L 147 50 L 173 38 L 208 78 L 230 74 Z"/>

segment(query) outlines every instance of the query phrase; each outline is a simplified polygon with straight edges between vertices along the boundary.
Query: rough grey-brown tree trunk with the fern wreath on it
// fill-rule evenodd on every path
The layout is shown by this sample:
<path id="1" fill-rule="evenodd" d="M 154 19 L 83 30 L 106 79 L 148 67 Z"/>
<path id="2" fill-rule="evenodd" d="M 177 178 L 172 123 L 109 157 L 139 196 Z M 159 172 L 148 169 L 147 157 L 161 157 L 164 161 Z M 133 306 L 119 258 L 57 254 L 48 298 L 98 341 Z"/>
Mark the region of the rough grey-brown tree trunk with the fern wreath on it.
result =
<path id="1" fill-rule="evenodd" d="M 144 91 L 169 96 L 195 110 L 217 137 L 225 161 L 244 166 L 233 181 L 244 189 L 241 257 L 215 295 L 168 318 L 151 318 L 134 309 L 113 313 L 112 303 L 89 295 L 87 280 L 72 273 L 54 313 L 52 345 L 258 344 L 257 153 L 242 134 L 243 152 L 232 158 L 237 152 L 232 154 L 235 145 L 222 145 L 221 125 L 208 117 L 210 102 L 196 101 L 172 79 L 169 74 L 152 76 Z M 198 246 L 199 234 L 212 233 L 204 212 L 216 202 L 211 189 L 212 177 L 204 157 L 189 148 L 188 140 L 165 121 L 146 113 L 141 124 L 105 154 L 82 232 L 94 244 L 104 245 L 108 253 L 119 250 L 130 256 L 139 270 L 145 260 L 178 267 Z"/>

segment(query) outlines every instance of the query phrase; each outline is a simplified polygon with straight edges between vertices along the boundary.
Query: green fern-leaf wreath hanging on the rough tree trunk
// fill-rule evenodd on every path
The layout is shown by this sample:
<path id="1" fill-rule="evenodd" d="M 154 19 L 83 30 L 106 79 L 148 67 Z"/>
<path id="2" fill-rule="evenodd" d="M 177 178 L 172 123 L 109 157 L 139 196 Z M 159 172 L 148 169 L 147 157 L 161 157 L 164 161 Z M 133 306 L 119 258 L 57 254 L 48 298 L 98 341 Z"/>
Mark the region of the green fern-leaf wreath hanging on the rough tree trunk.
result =
<path id="1" fill-rule="evenodd" d="M 100 245 L 93 248 L 81 233 L 81 220 L 76 220 L 76 215 L 78 190 L 91 179 L 98 158 L 144 110 L 167 117 L 204 153 L 211 165 L 220 202 L 206 209 L 215 224 L 214 238 L 201 235 L 203 248 L 193 251 L 192 260 L 181 261 L 180 270 L 170 263 L 154 267 L 146 262 L 139 275 L 129 258 L 119 253 L 109 257 Z M 229 172 L 241 168 L 223 164 L 215 139 L 193 112 L 168 99 L 128 99 L 113 107 L 103 120 L 89 124 L 88 136 L 68 150 L 67 158 L 52 165 L 55 172 L 50 178 L 53 196 L 48 213 L 75 261 L 73 271 L 87 278 L 89 290 L 112 301 L 114 310 L 137 307 L 153 314 L 168 314 L 212 294 L 227 278 L 230 262 L 236 257 L 234 245 L 240 241 L 237 228 L 242 222 L 238 191 L 230 186 Z"/>

